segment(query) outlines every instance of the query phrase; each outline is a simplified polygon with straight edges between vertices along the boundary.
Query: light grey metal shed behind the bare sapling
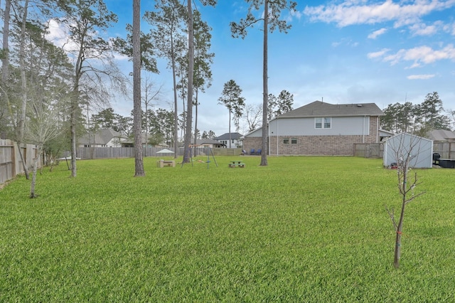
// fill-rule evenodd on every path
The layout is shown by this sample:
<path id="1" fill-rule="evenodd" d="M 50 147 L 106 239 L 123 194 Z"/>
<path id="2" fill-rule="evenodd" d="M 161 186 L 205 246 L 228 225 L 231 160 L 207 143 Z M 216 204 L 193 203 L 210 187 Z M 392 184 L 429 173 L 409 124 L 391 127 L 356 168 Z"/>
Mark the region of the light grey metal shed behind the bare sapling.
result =
<path id="1" fill-rule="evenodd" d="M 416 169 L 431 169 L 433 163 L 433 141 L 414 134 L 401 133 L 385 140 L 384 166 L 397 163 L 397 159 L 411 156 L 410 166 Z"/>

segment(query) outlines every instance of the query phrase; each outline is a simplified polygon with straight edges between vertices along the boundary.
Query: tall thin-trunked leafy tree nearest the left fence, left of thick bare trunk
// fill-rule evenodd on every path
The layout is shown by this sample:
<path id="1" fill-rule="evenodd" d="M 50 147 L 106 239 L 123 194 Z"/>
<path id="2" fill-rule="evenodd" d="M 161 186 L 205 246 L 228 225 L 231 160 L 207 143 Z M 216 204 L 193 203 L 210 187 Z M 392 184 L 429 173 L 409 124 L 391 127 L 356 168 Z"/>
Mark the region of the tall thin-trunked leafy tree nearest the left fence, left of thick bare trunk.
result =
<path id="1" fill-rule="evenodd" d="M 117 22 L 117 16 L 107 9 L 102 0 L 59 1 L 70 34 L 77 45 L 70 50 L 75 60 L 72 98 L 70 102 L 71 176 L 75 177 L 77 122 L 81 117 L 82 100 L 105 103 L 111 90 L 107 84 L 121 86 L 122 73 L 112 63 L 112 47 L 101 33 Z M 96 65 L 92 64 L 96 61 Z M 96 68 L 95 68 L 96 66 Z M 101 66 L 101 67 L 100 67 Z"/>

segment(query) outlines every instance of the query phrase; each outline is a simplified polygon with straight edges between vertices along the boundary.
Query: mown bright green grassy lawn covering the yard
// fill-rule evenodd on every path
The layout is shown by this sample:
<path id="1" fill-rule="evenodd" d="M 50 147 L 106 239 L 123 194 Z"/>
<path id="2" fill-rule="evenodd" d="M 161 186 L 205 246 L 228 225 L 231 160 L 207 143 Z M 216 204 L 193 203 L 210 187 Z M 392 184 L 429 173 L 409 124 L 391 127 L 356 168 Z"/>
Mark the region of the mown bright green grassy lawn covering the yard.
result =
<path id="1" fill-rule="evenodd" d="M 382 160 L 211 160 L 61 163 L 37 199 L 24 177 L 1 189 L 0 302 L 455 301 L 454 169 L 417 171 L 395 270 Z"/>

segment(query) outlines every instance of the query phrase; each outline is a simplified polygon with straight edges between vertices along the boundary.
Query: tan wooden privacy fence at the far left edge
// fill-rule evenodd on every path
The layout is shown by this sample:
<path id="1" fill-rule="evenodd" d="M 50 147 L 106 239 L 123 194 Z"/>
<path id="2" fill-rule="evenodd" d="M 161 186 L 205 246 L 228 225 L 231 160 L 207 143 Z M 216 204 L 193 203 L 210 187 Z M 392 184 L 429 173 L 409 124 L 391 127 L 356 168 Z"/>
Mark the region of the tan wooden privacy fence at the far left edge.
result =
<path id="1" fill-rule="evenodd" d="M 26 167 L 30 170 L 38 151 L 35 145 L 32 144 L 21 144 L 20 148 Z M 10 139 L 0 139 L 0 184 L 4 184 L 18 174 L 23 173 L 21 155 L 17 144 Z"/>

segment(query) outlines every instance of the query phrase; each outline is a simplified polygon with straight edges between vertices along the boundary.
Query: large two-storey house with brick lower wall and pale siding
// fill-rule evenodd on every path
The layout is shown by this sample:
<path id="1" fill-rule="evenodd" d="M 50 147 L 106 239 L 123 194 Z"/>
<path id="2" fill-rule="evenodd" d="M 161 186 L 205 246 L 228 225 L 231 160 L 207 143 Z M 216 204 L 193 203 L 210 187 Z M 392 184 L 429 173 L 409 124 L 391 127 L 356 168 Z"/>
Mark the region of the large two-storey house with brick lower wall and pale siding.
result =
<path id="1" fill-rule="evenodd" d="M 352 156 L 354 143 L 380 142 L 382 115 L 374 103 L 311 102 L 269 121 L 269 154 Z M 261 147 L 262 129 L 245 135 L 245 150 Z"/>

